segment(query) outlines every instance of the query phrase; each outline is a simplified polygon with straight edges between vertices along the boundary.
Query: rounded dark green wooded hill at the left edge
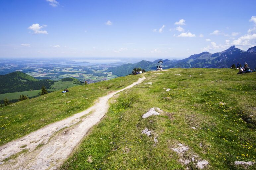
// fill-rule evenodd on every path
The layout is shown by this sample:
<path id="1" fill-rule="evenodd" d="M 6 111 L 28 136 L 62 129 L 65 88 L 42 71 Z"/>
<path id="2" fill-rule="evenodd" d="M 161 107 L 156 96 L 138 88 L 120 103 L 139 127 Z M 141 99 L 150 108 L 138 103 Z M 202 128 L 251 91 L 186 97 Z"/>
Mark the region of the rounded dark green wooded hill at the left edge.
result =
<path id="1" fill-rule="evenodd" d="M 42 86 L 47 89 L 54 84 L 52 80 L 37 80 L 22 72 L 0 75 L 0 94 L 39 90 Z"/>

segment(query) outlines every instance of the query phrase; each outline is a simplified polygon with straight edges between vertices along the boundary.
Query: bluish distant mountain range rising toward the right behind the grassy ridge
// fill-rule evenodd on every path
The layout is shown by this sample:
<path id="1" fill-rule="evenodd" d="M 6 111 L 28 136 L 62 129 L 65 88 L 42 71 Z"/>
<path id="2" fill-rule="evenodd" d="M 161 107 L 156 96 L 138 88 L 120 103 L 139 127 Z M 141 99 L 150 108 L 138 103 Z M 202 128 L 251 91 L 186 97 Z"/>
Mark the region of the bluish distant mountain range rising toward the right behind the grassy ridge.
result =
<path id="1" fill-rule="evenodd" d="M 182 60 L 158 59 L 153 62 L 142 60 L 135 64 L 124 64 L 117 67 L 109 68 L 107 71 L 117 76 L 125 76 L 131 73 L 135 67 L 141 67 L 145 70 L 155 70 L 158 62 L 163 61 L 163 69 L 167 68 L 230 68 L 232 64 L 240 62 L 243 65 L 247 62 L 251 69 L 256 67 L 256 46 L 242 51 L 235 46 L 231 46 L 222 52 L 214 54 L 202 52 L 194 54 Z"/>

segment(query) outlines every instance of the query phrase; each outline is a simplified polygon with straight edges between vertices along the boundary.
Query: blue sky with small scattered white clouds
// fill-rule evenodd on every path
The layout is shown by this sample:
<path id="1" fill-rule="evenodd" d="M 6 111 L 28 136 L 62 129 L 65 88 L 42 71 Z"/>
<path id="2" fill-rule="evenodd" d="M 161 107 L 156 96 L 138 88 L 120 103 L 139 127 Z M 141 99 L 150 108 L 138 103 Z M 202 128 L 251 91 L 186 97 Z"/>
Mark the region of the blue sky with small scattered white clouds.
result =
<path id="1" fill-rule="evenodd" d="M 256 45 L 256 1 L 1 0 L 1 58 L 186 58 Z"/>

